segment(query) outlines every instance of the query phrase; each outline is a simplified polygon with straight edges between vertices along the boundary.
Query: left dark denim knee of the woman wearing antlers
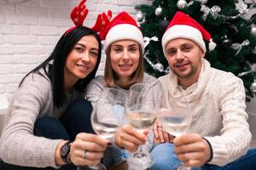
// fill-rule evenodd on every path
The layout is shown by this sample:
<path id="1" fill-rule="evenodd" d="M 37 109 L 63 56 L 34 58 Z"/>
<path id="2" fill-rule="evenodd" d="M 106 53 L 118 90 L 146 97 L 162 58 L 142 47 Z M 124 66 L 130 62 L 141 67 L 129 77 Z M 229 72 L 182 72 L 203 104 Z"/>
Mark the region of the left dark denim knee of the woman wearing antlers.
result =
<path id="1" fill-rule="evenodd" d="M 69 139 L 66 128 L 60 121 L 50 116 L 39 117 L 34 123 L 33 133 L 35 136 L 48 139 Z"/>

